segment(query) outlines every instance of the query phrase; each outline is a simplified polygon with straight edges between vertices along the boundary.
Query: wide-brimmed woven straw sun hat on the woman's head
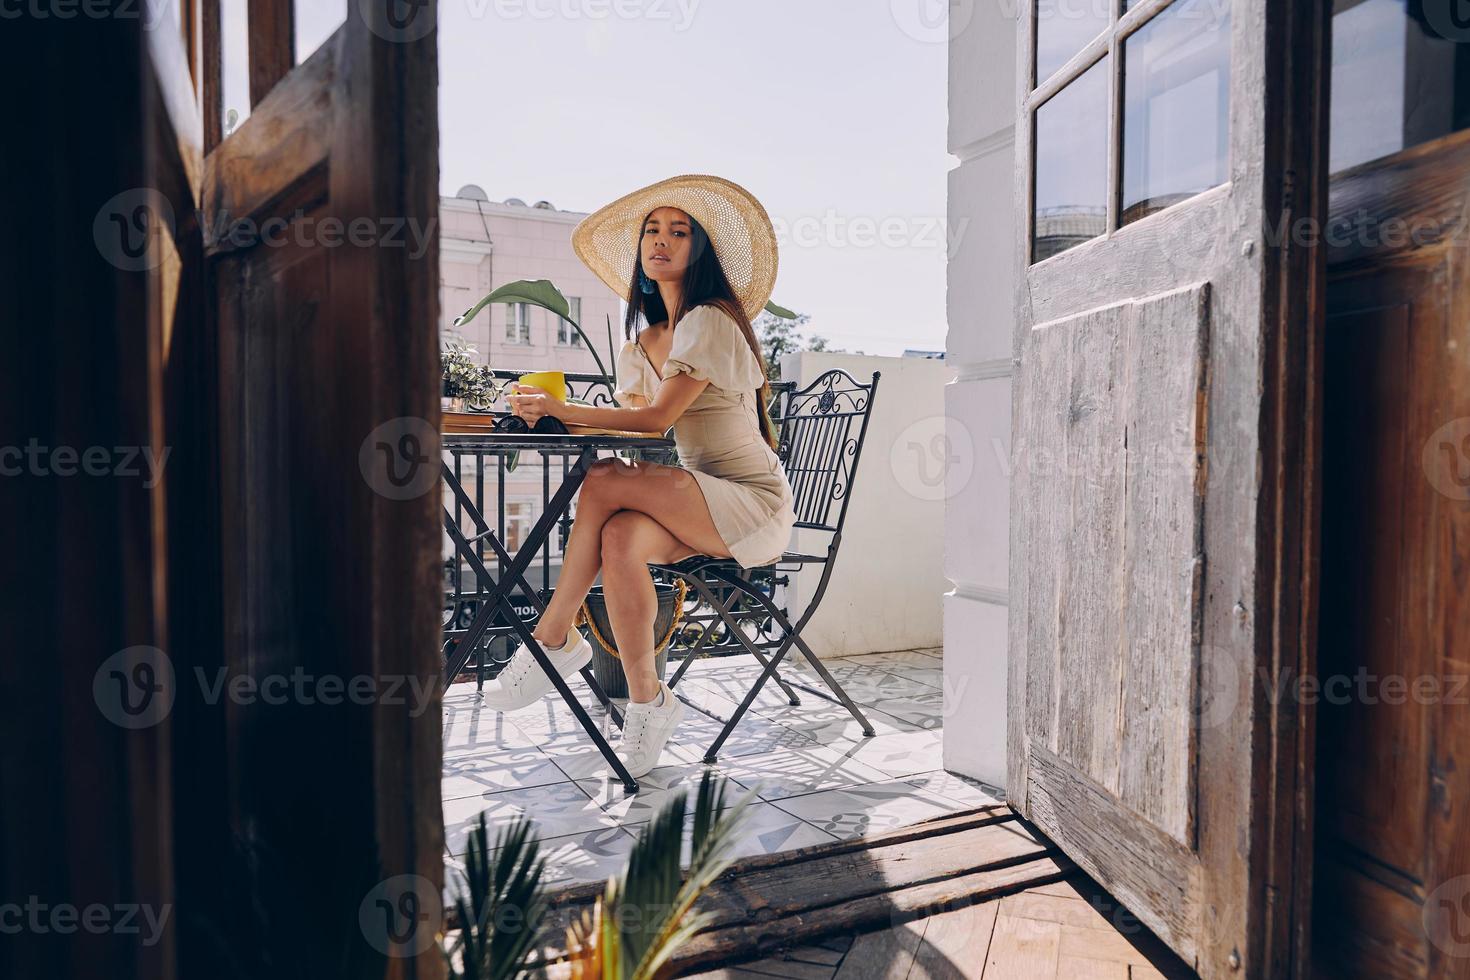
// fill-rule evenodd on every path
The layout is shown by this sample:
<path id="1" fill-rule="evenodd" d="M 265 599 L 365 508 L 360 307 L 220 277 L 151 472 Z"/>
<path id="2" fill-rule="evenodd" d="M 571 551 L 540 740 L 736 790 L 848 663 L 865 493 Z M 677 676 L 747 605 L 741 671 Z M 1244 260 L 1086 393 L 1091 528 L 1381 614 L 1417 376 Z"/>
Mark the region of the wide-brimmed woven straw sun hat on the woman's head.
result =
<path id="1" fill-rule="evenodd" d="M 656 207 L 678 207 L 700 222 L 745 316 L 754 320 L 776 288 L 776 229 L 760 201 L 739 184 L 703 173 L 650 184 L 584 217 L 572 232 L 572 248 L 598 279 L 628 300 L 642 222 Z"/>

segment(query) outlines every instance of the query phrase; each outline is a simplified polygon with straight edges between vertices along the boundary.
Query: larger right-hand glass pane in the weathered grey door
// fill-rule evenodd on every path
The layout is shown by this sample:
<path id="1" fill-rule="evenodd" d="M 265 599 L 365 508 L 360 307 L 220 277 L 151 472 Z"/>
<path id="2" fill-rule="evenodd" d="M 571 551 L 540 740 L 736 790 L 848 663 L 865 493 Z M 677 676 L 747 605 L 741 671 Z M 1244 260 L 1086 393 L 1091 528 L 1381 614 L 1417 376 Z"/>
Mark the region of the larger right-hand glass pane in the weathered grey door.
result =
<path id="1" fill-rule="evenodd" d="M 1230 162 L 1230 7 L 1179 0 L 1123 43 L 1119 225 L 1223 184 Z"/>

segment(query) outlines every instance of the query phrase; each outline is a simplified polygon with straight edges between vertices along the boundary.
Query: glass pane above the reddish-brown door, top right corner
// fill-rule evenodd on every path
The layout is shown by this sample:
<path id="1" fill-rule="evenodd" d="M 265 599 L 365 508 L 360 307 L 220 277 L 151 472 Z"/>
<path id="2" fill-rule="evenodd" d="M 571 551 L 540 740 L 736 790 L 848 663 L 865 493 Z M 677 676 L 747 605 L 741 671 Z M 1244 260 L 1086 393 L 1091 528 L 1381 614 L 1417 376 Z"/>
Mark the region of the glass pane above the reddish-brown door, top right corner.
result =
<path id="1" fill-rule="evenodd" d="M 1470 32 L 1451 18 L 1448 3 L 1411 16 L 1405 0 L 1336 0 L 1332 172 L 1470 126 L 1470 44 L 1455 43 Z"/>

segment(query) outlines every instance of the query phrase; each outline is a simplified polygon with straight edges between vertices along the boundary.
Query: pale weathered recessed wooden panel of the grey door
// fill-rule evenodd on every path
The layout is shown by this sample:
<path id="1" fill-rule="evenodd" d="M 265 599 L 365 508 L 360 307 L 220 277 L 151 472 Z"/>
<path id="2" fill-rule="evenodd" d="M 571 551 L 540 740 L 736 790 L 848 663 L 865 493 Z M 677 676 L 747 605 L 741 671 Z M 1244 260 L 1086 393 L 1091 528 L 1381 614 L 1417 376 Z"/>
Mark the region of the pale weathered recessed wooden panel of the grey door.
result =
<path id="1" fill-rule="evenodd" d="M 1055 561 L 1026 570 L 1028 738 L 1186 848 L 1208 295 L 1186 287 L 1036 326 L 1026 357 L 1044 383 L 1022 407 L 1030 444 L 1064 464 L 1030 511 Z"/>

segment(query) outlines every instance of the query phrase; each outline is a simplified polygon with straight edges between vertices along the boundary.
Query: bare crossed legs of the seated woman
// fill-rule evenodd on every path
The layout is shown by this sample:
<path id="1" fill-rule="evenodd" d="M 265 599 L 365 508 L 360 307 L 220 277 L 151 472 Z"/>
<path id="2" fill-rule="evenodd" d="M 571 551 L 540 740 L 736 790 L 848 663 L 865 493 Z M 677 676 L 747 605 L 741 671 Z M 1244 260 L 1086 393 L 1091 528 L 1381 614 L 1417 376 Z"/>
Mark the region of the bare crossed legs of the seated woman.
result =
<path id="1" fill-rule="evenodd" d="M 659 679 L 653 669 L 653 621 L 659 607 L 648 563 L 679 561 L 694 554 L 731 557 L 688 470 L 598 460 L 578 494 L 562 576 L 537 623 L 537 641 L 566 639 L 576 610 L 601 572 L 629 698 L 654 699 Z"/>

